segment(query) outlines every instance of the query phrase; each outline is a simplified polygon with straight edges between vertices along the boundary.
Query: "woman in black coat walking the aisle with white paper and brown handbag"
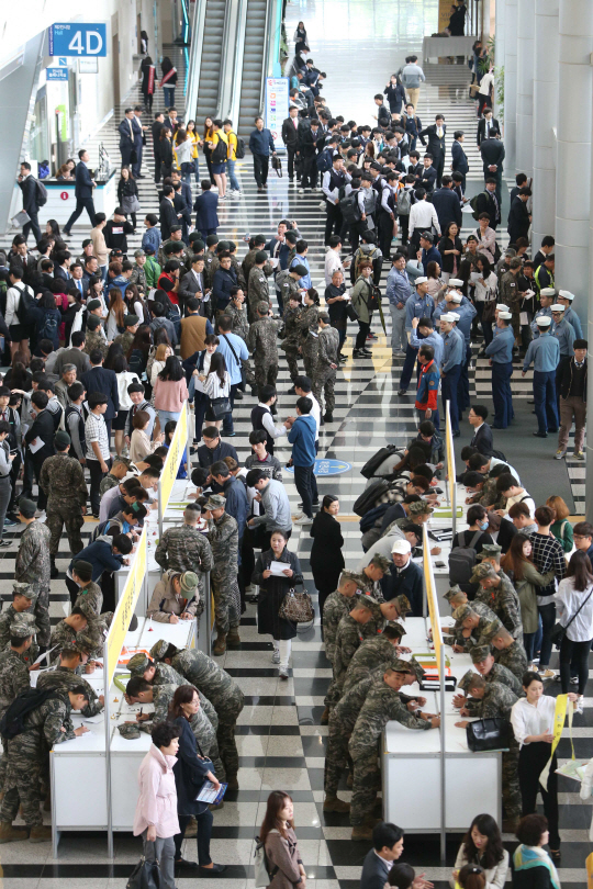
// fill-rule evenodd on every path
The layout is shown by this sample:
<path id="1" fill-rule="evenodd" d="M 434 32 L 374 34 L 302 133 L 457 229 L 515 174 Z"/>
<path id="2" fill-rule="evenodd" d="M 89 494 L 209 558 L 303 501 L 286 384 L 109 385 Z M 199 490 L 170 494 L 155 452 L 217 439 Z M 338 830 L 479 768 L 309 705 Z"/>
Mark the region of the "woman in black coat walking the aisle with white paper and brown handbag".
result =
<path id="1" fill-rule="evenodd" d="M 270 634 L 273 643 L 272 664 L 280 664 L 281 679 L 289 677 L 291 640 L 296 635 L 296 624 L 279 615 L 280 606 L 289 590 L 303 583 L 301 563 L 287 548 L 287 531 L 272 531 L 270 549 L 259 554 L 251 583 L 259 586 L 257 604 L 257 631 Z"/>

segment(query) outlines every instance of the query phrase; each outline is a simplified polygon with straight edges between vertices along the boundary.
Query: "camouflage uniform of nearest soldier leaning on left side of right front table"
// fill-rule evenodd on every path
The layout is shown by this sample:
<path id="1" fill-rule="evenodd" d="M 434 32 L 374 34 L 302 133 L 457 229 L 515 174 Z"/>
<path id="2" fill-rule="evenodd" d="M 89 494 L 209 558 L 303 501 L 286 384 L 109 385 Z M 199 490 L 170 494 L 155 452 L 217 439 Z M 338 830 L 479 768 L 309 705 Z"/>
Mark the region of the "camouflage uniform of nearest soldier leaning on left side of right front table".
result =
<path id="1" fill-rule="evenodd" d="M 354 727 L 348 750 L 354 763 L 350 823 L 362 825 L 372 818 L 377 789 L 380 786 L 378 741 L 390 720 L 396 720 L 407 729 L 426 731 L 430 722 L 413 716 L 398 691 L 378 678 L 369 689 Z"/>

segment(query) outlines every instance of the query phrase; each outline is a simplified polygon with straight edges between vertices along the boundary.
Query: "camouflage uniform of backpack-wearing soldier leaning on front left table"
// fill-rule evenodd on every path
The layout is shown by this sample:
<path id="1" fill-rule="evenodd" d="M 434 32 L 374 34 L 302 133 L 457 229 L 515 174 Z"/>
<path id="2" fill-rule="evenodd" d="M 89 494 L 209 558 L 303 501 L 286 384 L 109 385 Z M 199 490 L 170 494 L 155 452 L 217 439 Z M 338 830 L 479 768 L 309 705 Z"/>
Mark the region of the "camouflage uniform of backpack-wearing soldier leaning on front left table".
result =
<path id="1" fill-rule="evenodd" d="M 23 820 L 29 828 L 43 824 L 40 785 L 46 769 L 47 751 L 75 738 L 70 701 L 66 693 L 64 696 L 48 698 L 27 713 L 24 731 L 8 741 L 7 779 L 0 809 L 0 821 L 4 823 L 14 821 L 22 806 Z"/>

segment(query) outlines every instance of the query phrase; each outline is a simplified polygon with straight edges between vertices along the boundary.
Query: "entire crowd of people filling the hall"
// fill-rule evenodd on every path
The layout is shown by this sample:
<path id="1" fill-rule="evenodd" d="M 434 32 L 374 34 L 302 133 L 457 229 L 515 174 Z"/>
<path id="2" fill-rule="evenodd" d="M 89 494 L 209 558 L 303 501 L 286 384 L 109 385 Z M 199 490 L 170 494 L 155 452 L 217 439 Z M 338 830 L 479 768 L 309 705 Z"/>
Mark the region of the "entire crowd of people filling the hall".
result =
<path id="1" fill-rule="evenodd" d="M 465 16 L 461 8 L 452 13 L 458 21 Z M 538 787 L 553 740 L 555 699 L 544 693 L 546 683 L 559 679 L 571 706 L 583 711 L 593 640 L 593 526 L 571 526 L 559 496 L 536 504 L 495 450 L 492 428 L 513 421 L 514 361 L 523 362 L 524 375 L 534 364 L 534 435 L 558 432 L 560 459 L 574 418 L 574 455 L 583 459 L 588 344 L 571 307 L 573 294 L 555 290 L 551 236 L 529 258 L 532 193 L 524 176 L 512 194 L 512 246 L 501 254 L 504 145 L 488 104 L 481 103 L 477 128 L 484 190 L 468 201 L 465 134 L 456 131 L 449 162 L 444 115 L 423 126 L 416 114 L 425 79 L 416 56 L 374 97 L 377 125 L 359 125 L 326 108 L 321 95 L 326 75 L 309 56 L 302 22 L 295 43 L 282 138 L 294 188 L 316 191 L 321 175 L 327 248 L 323 294 L 312 285 L 309 244 L 296 221 L 280 218 L 276 232 L 250 237 L 240 262 L 238 245 L 219 239 L 217 202 L 240 193 L 234 165 L 245 146 L 231 121 L 206 119 L 200 137 L 195 121 L 178 120 L 170 59 L 161 65 L 168 115 L 156 114 L 152 126 L 155 181 L 163 177 L 160 214 L 145 216 L 143 246 L 132 258 L 126 236 L 136 230 L 141 210 L 136 180 L 147 128 L 142 113 L 150 110 L 154 93 L 149 58 L 143 61 L 144 105 L 126 110 L 119 126 L 122 176 L 113 218 L 94 212 L 89 157 L 81 149 L 75 168 L 77 210 L 61 233 L 53 220 L 42 233 L 35 180 L 30 166 L 21 165 L 31 224 L 0 256 L 0 333 L 10 360 L 0 387 L 0 547 L 12 545 L 2 537 L 4 528 L 22 531 L 13 603 L 0 615 L 0 711 L 26 693 L 33 662 L 46 652 L 56 669 L 40 676 L 36 687 L 57 696 L 31 710 L 24 731 L 4 736 L 0 843 L 49 837 L 41 810 L 48 788 L 47 749 L 86 731 L 74 729 L 71 711 L 91 716 L 103 707 L 83 674 L 92 673 L 100 657 L 116 605 L 114 573 L 130 562 L 138 530 L 156 507 L 171 437 L 189 403 L 194 440 L 178 477 L 188 479 L 194 492 L 182 524 L 158 541 L 155 559 L 164 574 L 148 616 L 157 623 L 199 619 L 210 572 L 215 641 L 211 657 L 157 638 L 149 655 L 138 653 L 128 664 L 126 700 L 154 705 L 154 713 L 121 727 L 124 736 L 144 730 L 153 741 L 141 769 L 134 833 L 143 836 L 147 858 L 160 862 L 167 889 L 174 889 L 176 869 L 223 873 L 210 857 L 211 808 L 195 796 L 204 780 L 215 789 L 221 783 L 239 786 L 235 725 L 243 694 L 215 659 L 240 645 L 240 615 L 249 592 L 257 590 L 258 632 L 270 638 L 280 678 L 289 678 L 296 623 L 284 604 L 303 587 L 304 575 L 288 544 L 295 526 L 309 528 L 333 669 L 322 716 L 328 725 L 323 809 L 349 813 L 353 840 L 372 842 L 365 889 L 371 884 L 382 889 L 385 882 L 399 889 L 429 887 L 423 875 L 398 862 L 403 830 L 376 825 L 377 746 L 390 720 L 417 731 L 440 725 L 439 714 L 424 709 L 425 698 L 403 693 L 422 680 L 424 671 L 410 657 L 402 621 L 423 614 L 417 556 L 422 526 L 439 497 L 439 420 L 448 402 L 454 436 L 460 435 L 463 412 L 473 427 L 460 451 L 465 470 L 458 479 L 467 489 L 469 530 L 452 541 L 446 596 L 455 619 L 448 644 L 469 652 L 475 667 L 455 698 L 463 719 L 459 724 L 500 717 L 512 725 L 501 794 L 502 826 L 519 840 L 513 878 L 522 889 L 527 871 L 537 867 L 542 887 L 558 887 L 553 756 L 547 789 Z M 422 160 L 418 142 L 427 148 Z M 200 180 L 199 149 L 209 179 Z M 249 149 L 262 192 L 276 149 L 261 117 Z M 192 177 L 200 183 L 195 201 Z M 461 213 L 468 203 L 477 227 L 463 243 Z M 83 210 L 91 229 L 76 256 L 67 239 Z M 30 232 L 36 252 L 27 248 Z M 356 510 L 363 555 L 346 570 L 339 499 L 327 494 L 320 502 L 314 464 L 320 429 L 335 421 L 335 382 L 348 360 L 343 348 L 349 320 L 358 326 L 353 358 L 372 356 L 385 262 L 391 262 L 385 289 L 391 348 L 394 357 L 405 356 L 399 395 L 406 395 L 416 368 L 418 429 L 406 448 L 391 449 L 369 472 Z M 478 338 L 492 364 L 492 427 L 489 408 L 470 401 L 471 344 Z M 281 352 L 292 383 L 282 394 L 283 419 L 277 390 Z M 236 436 L 233 410 L 249 395 L 255 397 L 251 453 L 242 462 L 223 439 Z M 284 437 L 301 497 L 296 516 L 275 457 Z M 85 545 L 87 514 L 98 524 Z M 49 586 L 61 573 L 64 531 L 71 609 L 52 629 Z M 564 627 L 558 674 L 550 667 L 557 619 Z M 345 773 L 350 802 L 338 797 Z M 538 789 L 546 818 L 535 813 Z M 19 806 L 24 829 L 13 823 Z M 548 831 L 549 855 L 542 849 Z M 198 842 L 193 864 L 181 856 L 182 841 L 191 835 Z M 289 795 L 270 796 L 260 842 L 270 885 L 304 886 Z M 507 867 L 499 826 L 479 815 L 459 851 L 451 886 L 502 887 Z"/>

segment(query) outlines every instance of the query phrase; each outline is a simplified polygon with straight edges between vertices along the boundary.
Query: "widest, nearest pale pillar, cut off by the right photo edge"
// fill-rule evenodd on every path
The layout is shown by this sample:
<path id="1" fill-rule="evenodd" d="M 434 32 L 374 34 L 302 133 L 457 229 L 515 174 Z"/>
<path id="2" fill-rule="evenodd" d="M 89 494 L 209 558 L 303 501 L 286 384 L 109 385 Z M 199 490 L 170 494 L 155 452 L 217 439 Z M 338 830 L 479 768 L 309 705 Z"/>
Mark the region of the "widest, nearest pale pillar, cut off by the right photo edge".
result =
<path id="1" fill-rule="evenodd" d="M 555 281 L 557 288 L 575 294 L 574 308 L 585 320 L 593 123 L 591 0 L 560 0 L 559 33 Z"/>

